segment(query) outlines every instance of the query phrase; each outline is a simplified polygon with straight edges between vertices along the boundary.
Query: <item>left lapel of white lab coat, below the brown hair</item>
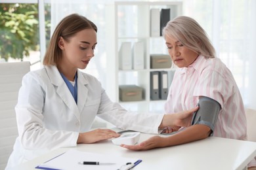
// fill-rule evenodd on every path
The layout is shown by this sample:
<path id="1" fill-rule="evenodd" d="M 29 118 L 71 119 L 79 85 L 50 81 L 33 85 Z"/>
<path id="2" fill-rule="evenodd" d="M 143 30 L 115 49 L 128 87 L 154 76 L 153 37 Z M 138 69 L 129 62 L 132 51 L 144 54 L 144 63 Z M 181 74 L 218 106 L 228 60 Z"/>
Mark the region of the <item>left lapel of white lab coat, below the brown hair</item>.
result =
<path id="1" fill-rule="evenodd" d="M 68 86 L 64 82 L 60 72 L 58 71 L 56 66 L 46 66 L 47 73 L 49 78 L 51 79 L 52 84 L 55 86 L 56 93 L 60 96 L 62 101 L 68 106 L 68 108 L 75 114 L 77 119 L 79 120 L 80 115 L 77 109 L 77 105 L 75 103 L 74 97 L 70 93 Z"/>

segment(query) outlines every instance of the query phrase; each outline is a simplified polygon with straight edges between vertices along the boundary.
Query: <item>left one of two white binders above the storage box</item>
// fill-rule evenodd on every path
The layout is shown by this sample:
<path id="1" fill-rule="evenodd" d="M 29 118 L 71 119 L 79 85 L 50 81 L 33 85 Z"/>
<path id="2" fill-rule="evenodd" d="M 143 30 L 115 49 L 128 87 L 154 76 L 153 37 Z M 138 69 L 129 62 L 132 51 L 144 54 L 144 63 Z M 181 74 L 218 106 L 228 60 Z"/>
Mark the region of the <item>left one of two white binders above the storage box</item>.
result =
<path id="1" fill-rule="evenodd" d="M 122 42 L 119 49 L 119 69 L 132 69 L 131 42 Z"/>

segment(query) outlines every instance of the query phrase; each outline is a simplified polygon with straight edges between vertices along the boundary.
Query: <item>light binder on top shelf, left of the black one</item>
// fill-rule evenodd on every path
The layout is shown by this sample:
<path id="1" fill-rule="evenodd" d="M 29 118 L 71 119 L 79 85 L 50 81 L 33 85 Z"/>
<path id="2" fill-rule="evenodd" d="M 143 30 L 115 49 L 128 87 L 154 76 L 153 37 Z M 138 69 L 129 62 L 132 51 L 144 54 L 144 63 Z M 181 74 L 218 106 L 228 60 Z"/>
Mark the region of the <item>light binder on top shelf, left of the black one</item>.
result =
<path id="1" fill-rule="evenodd" d="M 160 37 L 160 9 L 150 9 L 150 36 Z"/>

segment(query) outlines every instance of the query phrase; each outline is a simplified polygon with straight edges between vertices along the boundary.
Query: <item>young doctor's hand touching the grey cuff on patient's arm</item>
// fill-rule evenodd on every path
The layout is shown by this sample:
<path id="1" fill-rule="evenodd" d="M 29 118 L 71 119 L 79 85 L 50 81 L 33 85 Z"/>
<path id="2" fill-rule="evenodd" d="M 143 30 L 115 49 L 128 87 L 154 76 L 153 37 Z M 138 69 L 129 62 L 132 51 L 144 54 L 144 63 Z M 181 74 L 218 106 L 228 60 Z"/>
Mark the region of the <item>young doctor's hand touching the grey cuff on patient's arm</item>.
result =
<path id="1" fill-rule="evenodd" d="M 179 127 L 188 127 L 191 126 L 193 113 L 198 110 L 199 107 L 194 109 L 185 110 L 183 112 L 177 112 L 173 114 L 165 114 L 163 120 L 159 126 L 160 129 L 168 126 L 179 126 Z"/>

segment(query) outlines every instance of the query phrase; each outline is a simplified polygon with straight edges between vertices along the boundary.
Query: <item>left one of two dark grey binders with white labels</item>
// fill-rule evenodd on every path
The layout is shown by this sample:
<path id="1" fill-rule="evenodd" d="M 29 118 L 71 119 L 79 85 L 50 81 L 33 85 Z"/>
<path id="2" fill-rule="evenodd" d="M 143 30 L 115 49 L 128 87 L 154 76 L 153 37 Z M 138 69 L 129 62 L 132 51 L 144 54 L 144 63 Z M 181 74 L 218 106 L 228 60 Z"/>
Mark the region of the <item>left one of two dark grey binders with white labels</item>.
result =
<path id="1" fill-rule="evenodd" d="M 159 99 L 159 72 L 152 71 L 150 72 L 150 99 L 158 100 Z"/>

